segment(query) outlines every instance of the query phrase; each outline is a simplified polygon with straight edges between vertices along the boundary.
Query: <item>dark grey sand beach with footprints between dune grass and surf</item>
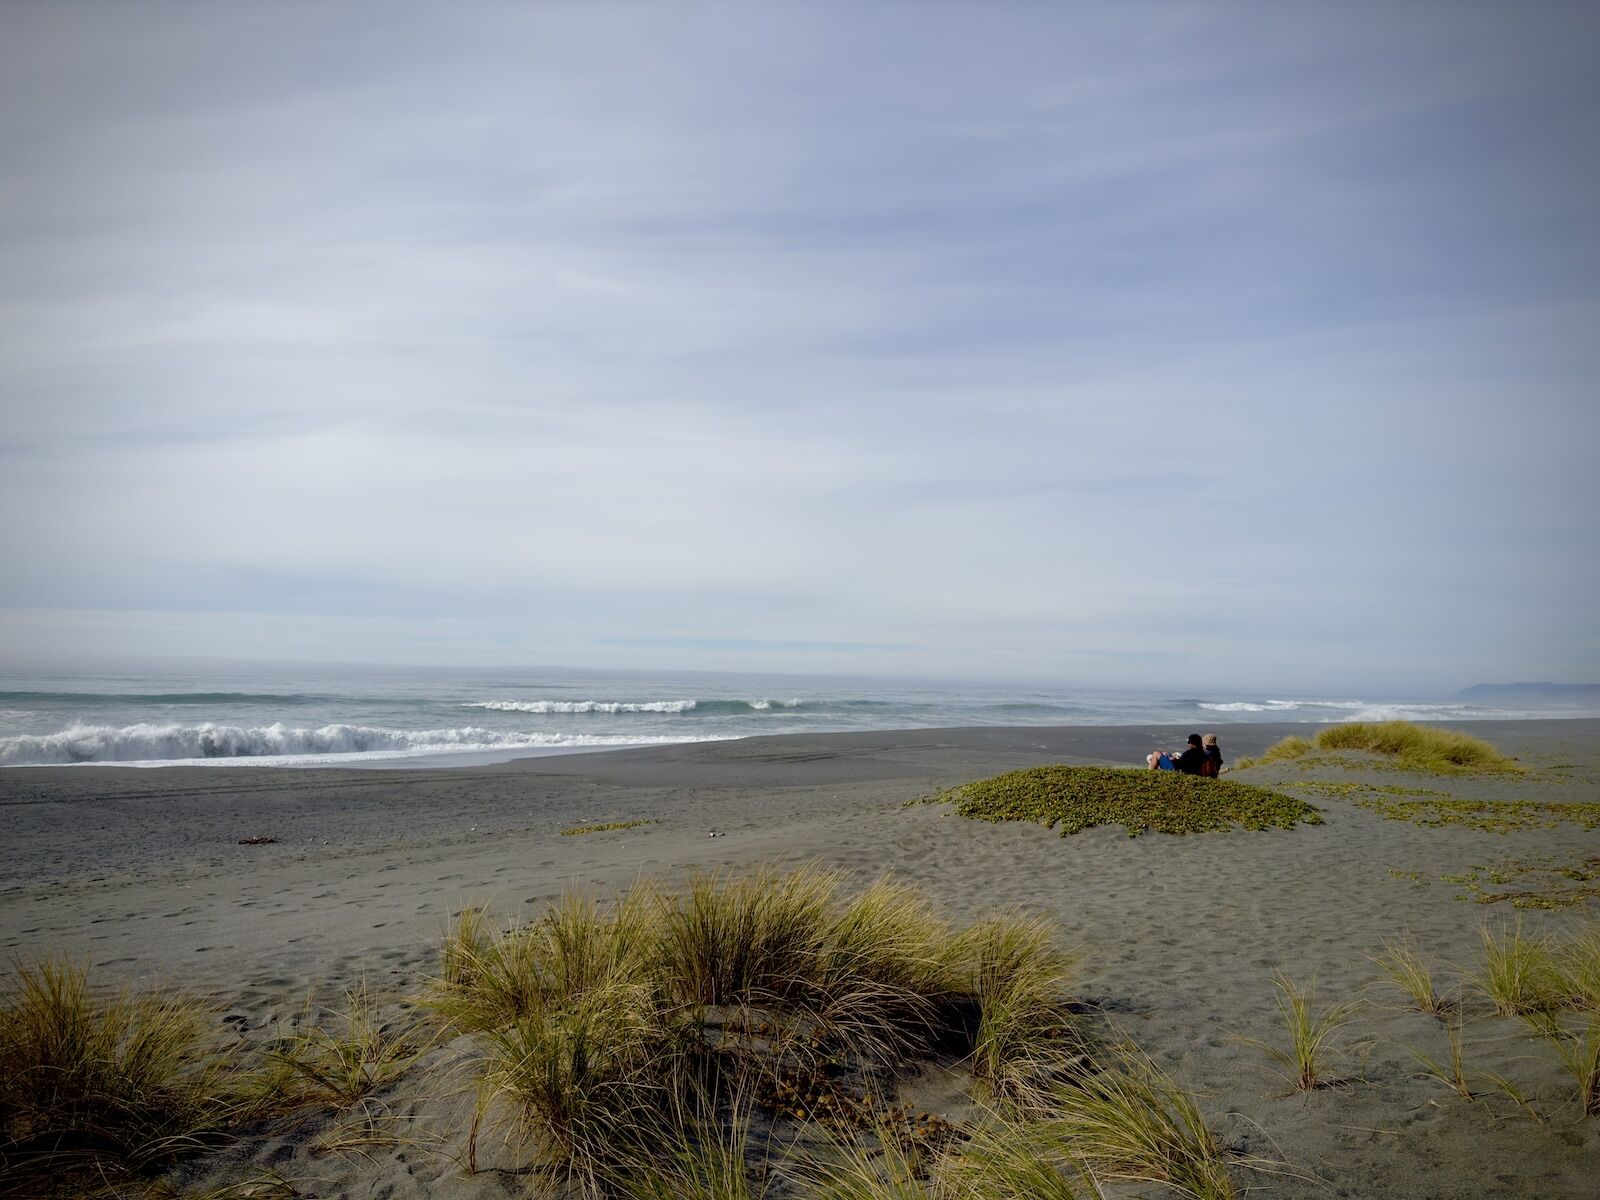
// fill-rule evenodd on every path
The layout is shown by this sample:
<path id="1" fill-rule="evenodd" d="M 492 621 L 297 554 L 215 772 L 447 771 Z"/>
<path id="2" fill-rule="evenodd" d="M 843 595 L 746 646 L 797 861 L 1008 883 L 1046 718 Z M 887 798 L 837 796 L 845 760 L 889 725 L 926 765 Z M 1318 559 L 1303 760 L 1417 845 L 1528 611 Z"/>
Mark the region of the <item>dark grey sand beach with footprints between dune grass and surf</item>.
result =
<path id="1" fill-rule="evenodd" d="M 1011 906 L 1050 917 L 1085 955 L 1082 997 L 1198 1096 L 1224 1141 L 1283 1163 L 1240 1176 L 1264 1195 L 1589 1197 L 1600 1118 L 1576 1112 L 1549 1046 L 1469 1008 L 1469 1053 L 1517 1078 L 1546 1120 L 1509 1101 L 1469 1104 L 1413 1056 L 1443 1054 L 1440 1024 L 1408 1011 L 1370 960 L 1410 936 L 1440 970 L 1470 968 L 1482 925 L 1515 912 L 1440 877 L 1600 856 L 1600 832 L 1571 822 L 1427 827 L 1355 803 L 1358 786 L 1600 802 L 1600 722 L 1462 728 L 1525 773 L 1258 766 L 1234 778 L 1334 784 L 1302 792 L 1325 824 L 1136 838 L 1120 827 L 1061 838 L 907 802 L 1040 763 L 1134 765 L 1186 730 L 757 738 L 411 771 L 6 770 L 0 978 L 64 952 L 106 982 L 176 984 L 240 1030 L 266 1030 L 310 992 L 336 997 L 360 981 L 395 998 L 416 992 L 466 902 L 531 917 L 568 888 L 606 896 L 646 877 L 672 885 L 694 869 L 816 861 L 861 885 L 885 874 L 914 883 L 957 920 Z M 1232 765 L 1290 733 L 1307 726 L 1227 726 L 1222 752 Z M 650 824 L 562 834 L 626 821 Z M 240 845 L 251 837 L 275 842 Z M 1594 920 L 1592 907 L 1522 918 L 1560 931 Z M 1318 1000 L 1360 1002 L 1339 1086 L 1288 1094 L 1238 1040 L 1282 1040 L 1274 971 L 1315 978 Z M 197 1182 L 270 1163 L 302 1181 L 301 1195 L 512 1194 L 515 1176 L 462 1171 L 459 1096 L 437 1091 L 408 1109 L 429 1126 L 416 1146 L 314 1157 L 294 1134 L 264 1136 L 202 1163 Z"/>

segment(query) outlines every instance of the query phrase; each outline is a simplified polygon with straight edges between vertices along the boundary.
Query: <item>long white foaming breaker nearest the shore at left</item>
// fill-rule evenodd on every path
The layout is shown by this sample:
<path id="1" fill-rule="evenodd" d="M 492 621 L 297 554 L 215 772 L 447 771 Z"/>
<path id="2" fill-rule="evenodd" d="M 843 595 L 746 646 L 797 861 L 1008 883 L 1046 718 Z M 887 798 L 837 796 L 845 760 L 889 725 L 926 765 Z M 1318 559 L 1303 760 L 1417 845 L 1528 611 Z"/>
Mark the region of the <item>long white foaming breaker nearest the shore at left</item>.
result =
<path id="1" fill-rule="evenodd" d="M 288 725 L 74 725 L 61 733 L 0 738 L 0 766 L 48 766 L 67 763 L 192 763 L 254 762 L 286 765 L 328 757 L 408 757 L 458 750 L 515 750 L 562 747 L 662 746 L 707 738 L 498 733 L 472 726 L 459 730 L 382 730 L 363 725 L 323 725 L 315 730 Z"/>

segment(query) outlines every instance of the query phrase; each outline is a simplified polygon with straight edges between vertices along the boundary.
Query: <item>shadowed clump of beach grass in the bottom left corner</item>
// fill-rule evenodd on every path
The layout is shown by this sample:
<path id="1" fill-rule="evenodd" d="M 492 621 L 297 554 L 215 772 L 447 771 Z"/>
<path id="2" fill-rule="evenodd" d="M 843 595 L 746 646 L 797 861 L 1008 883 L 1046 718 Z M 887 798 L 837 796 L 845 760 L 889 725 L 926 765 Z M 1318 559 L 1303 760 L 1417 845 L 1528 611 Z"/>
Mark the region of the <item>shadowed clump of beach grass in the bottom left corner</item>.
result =
<path id="1" fill-rule="evenodd" d="M 240 1093 L 208 1018 L 176 994 L 98 989 L 66 960 L 19 965 L 0 998 L 5 1190 L 125 1195 L 211 1144 Z"/>

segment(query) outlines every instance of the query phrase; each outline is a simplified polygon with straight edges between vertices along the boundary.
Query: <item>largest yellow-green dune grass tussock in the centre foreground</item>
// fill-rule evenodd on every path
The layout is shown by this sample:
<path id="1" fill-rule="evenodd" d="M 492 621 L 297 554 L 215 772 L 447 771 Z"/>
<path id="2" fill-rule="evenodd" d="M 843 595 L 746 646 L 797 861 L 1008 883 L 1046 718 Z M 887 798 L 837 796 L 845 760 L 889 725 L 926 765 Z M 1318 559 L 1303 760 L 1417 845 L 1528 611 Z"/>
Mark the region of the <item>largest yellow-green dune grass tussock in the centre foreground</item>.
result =
<path id="1" fill-rule="evenodd" d="M 1016 1102 L 1082 1056 L 1074 960 L 1050 926 L 1000 914 L 958 930 L 890 882 L 848 894 L 816 867 L 698 874 L 610 906 L 566 898 L 523 928 L 466 926 L 429 1003 L 480 1045 L 480 1109 L 589 1195 L 726 1176 L 731 1150 L 691 1128 L 696 1094 L 850 1131 L 906 1120 L 883 1098 L 907 1061 L 958 1058 Z M 920 1126 L 901 1141 L 931 1152 Z M 642 1171 L 661 1147 L 670 1170 Z"/>

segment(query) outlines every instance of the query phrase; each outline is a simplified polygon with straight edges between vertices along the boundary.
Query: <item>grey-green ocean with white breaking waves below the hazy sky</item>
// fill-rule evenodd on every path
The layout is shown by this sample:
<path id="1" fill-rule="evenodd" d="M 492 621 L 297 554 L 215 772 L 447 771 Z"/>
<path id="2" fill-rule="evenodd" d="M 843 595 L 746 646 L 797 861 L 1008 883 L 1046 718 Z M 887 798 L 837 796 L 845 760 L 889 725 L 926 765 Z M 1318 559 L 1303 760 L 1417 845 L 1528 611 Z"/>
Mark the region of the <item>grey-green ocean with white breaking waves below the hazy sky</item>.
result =
<path id="1" fill-rule="evenodd" d="M 440 766 L 776 733 L 1594 717 L 1597 706 L 557 669 L 174 666 L 0 674 L 0 766 Z"/>

